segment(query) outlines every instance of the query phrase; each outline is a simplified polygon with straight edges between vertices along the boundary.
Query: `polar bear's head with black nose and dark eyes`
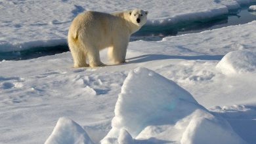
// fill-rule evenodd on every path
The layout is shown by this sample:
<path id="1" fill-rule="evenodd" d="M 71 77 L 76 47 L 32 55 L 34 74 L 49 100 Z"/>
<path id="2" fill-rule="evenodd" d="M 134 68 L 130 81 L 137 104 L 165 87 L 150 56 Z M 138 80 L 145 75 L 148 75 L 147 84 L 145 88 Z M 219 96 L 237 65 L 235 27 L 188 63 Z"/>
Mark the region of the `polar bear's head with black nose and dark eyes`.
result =
<path id="1" fill-rule="evenodd" d="M 135 10 L 129 10 L 130 14 L 130 20 L 133 22 L 133 24 L 141 27 L 144 24 L 146 24 L 147 20 L 147 15 L 148 11 L 140 10 L 140 9 L 135 9 Z"/>

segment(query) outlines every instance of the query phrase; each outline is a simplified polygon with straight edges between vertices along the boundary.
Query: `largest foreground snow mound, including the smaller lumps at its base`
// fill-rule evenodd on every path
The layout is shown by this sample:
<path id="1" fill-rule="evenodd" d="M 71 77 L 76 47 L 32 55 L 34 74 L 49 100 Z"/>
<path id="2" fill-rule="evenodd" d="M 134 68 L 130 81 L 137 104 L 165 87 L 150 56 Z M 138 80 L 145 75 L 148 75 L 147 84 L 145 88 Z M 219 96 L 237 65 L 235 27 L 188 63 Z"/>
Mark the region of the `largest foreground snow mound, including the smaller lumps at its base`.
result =
<path id="1" fill-rule="evenodd" d="M 112 130 L 101 144 L 129 143 L 125 139 L 131 143 L 245 143 L 226 120 L 211 115 L 186 90 L 142 67 L 125 79 Z"/>

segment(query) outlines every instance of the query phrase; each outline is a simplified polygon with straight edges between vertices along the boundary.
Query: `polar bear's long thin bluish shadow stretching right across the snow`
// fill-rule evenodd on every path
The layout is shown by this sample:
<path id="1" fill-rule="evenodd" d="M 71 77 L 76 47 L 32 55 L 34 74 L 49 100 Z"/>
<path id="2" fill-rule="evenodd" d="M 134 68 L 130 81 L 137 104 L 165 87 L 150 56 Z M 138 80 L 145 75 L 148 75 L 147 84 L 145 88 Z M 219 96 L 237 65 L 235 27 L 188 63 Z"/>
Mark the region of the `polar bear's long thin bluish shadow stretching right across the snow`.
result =
<path id="1" fill-rule="evenodd" d="M 127 58 L 127 63 L 142 63 L 154 60 L 183 59 L 183 60 L 221 60 L 224 55 L 169 56 L 165 54 L 145 54 Z"/>

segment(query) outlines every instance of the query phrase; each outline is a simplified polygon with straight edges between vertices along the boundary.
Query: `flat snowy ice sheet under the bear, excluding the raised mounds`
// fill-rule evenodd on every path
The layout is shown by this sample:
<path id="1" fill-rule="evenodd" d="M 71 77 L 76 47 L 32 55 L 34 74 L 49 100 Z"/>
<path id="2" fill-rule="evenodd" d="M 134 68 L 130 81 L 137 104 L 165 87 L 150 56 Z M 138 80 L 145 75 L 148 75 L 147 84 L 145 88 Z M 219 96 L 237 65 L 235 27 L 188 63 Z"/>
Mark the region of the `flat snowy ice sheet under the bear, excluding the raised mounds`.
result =
<path id="1" fill-rule="evenodd" d="M 99 143 L 111 130 L 115 103 L 121 86 L 129 71 L 137 67 L 152 69 L 179 84 L 192 94 L 200 105 L 228 121 L 242 139 L 255 143 L 255 73 L 227 77 L 216 68 L 217 63 L 228 52 L 252 52 L 255 49 L 255 24 L 256 22 L 251 22 L 202 33 L 165 37 L 161 41 L 131 42 L 127 50 L 127 63 L 123 65 L 73 69 L 70 52 L 32 60 L 2 61 L 0 143 L 44 143 L 60 117 L 69 117 L 79 123 L 92 141 Z M 101 53 L 105 63 L 106 53 Z M 231 108 L 224 108 L 232 105 L 238 107 L 237 111 L 234 109 L 235 113 L 230 111 Z M 200 117 L 197 113 L 190 115 Z M 207 117 L 213 116 L 207 113 Z M 186 119 L 192 120 L 184 120 Z M 202 119 L 202 124 L 208 123 Z M 211 122 L 210 124 L 214 125 Z M 188 125 L 182 128 L 195 132 L 203 131 Z M 151 129 L 147 127 L 143 130 L 147 132 Z M 220 130 L 222 134 L 223 129 Z M 185 130 L 177 134 L 184 132 Z M 143 141 L 137 139 L 138 137 L 129 130 L 127 133 L 138 143 L 164 143 L 157 138 Z M 125 136 L 128 134 L 120 133 L 119 135 L 124 136 L 118 137 L 119 141 L 131 140 L 131 137 Z M 186 137 L 188 138 L 184 140 L 193 141 L 189 135 Z"/>

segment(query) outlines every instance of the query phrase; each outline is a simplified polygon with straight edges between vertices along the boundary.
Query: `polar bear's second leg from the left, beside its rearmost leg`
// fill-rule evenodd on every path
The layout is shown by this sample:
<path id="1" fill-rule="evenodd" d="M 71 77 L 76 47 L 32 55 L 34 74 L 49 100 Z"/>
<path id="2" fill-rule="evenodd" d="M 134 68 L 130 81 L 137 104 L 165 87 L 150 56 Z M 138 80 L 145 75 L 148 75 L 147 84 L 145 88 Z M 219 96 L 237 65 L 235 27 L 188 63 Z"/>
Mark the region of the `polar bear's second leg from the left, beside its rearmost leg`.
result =
<path id="1" fill-rule="evenodd" d="M 96 48 L 91 48 L 89 52 L 87 52 L 87 57 L 90 67 L 106 66 L 104 63 L 100 62 L 100 52 Z"/>

